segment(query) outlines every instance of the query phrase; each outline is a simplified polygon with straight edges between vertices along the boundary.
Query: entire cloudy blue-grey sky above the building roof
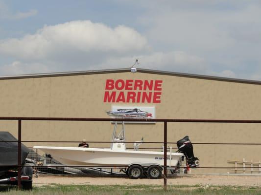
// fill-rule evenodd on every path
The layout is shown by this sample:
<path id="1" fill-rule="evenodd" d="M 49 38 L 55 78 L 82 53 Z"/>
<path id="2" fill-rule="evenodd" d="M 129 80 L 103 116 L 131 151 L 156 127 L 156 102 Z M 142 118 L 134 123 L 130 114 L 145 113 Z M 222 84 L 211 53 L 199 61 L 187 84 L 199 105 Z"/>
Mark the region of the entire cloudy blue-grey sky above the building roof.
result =
<path id="1" fill-rule="evenodd" d="M 0 76 L 140 68 L 261 80 L 260 0 L 0 0 Z"/>

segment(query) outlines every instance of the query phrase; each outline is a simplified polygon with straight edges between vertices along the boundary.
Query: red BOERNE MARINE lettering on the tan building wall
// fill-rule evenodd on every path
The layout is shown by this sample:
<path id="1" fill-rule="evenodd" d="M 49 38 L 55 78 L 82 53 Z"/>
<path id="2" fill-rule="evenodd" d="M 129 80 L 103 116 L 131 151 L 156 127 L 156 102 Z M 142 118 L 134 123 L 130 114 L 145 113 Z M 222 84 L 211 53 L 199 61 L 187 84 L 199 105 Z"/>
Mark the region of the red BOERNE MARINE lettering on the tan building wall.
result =
<path id="1" fill-rule="evenodd" d="M 103 102 L 161 103 L 162 80 L 107 79 Z"/>

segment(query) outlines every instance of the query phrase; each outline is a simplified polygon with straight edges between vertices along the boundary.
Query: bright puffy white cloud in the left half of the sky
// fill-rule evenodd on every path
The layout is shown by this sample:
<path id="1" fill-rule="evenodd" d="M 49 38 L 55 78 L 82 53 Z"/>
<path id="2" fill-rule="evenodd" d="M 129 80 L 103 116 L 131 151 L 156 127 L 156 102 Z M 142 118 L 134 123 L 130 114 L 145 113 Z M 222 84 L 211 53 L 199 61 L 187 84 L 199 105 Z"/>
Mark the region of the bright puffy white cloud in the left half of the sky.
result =
<path id="1" fill-rule="evenodd" d="M 132 28 L 110 28 L 89 20 L 45 26 L 22 39 L 0 41 L 0 53 L 20 59 L 52 59 L 60 54 L 130 53 L 148 49 L 146 39 Z"/>

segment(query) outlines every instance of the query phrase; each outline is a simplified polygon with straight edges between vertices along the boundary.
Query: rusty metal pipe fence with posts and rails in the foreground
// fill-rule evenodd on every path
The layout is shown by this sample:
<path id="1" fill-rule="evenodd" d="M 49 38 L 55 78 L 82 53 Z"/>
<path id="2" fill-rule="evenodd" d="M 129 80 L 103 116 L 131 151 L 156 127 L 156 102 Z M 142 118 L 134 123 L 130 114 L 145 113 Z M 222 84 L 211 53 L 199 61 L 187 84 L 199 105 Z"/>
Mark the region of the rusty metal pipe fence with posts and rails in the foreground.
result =
<path id="1" fill-rule="evenodd" d="M 4 142 L 18 142 L 18 164 L 13 167 L 18 168 L 18 186 L 21 189 L 21 170 L 23 166 L 21 164 L 21 143 L 22 142 L 55 142 L 55 143 L 66 143 L 66 142 L 79 142 L 79 141 L 36 141 L 36 140 L 22 140 L 22 120 L 39 120 L 39 121 L 132 121 L 132 122 L 164 122 L 164 141 L 163 142 L 143 142 L 143 143 L 161 143 L 164 144 L 164 189 L 167 187 L 167 144 L 176 144 L 176 142 L 167 142 L 167 123 L 168 122 L 183 122 L 183 123 L 261 123 L 261 120 L 226 120 L 226 119 L 151 119 L 151 118 L 71 118 L 71 117 L 0 117 L 0 120 L 18 120 L 18 141 L 4 141 Z M 2 141 L 1 141 L 2 142 Z M 113 143 L 111 141 L 88 141 L 89 143 Z M 115 143 L 116 141 L 114 141 Z M 126 141 L 125 143 L 134 143 Z M 193 143 L 202 145 L 261 145 L 261 143 Z M 94 167 L 94 166 L 66 166 L 63 167 Z M 3 167 L 3 166 L 1 166 Z M 40 166 L 34 166 L 40 167 Z M 41 166 L 42 167 L 42 166 Z M 99 166 L 103 167 L 103 166 Z M 104 166 L 109 167 L 109 166 Z M 113 166 L 112 166 L 113 167 Z M 119 166 L 117 166 L 119 167 Z M 175 167 L 175 166 L 171 166 Z M 185 168 L 185 167 L 181 167 Z M 200 169 L 230 169 L 233 167 L 198 167 Z M 237 167 L 241 168 L 241 167 Z M 248 167 L 244 167 L 248 168 Z M 251 167 L 249 167 L 251 168 Z M 253 167 L 252 167 L 253 169 Z"/>

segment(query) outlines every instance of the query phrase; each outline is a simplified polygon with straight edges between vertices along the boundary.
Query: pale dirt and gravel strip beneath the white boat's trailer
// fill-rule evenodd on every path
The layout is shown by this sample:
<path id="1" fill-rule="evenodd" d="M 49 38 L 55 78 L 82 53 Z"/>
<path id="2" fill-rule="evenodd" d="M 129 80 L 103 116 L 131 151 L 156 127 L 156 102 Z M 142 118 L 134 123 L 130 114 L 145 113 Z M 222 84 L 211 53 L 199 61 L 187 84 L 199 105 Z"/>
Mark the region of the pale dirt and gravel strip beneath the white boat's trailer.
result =
<path id="1" fill-rule="evenodd" d="M 86 185 L 163 185 L 163 179 L 129 179 L 122 177 L 76 177 L 39 176 L 33 178 L 34 186 L 47 184 L 86 184 Z M 168 185 L 233 185 L 261 186 L 261 176 L 183 176 L 167 179 Z"/>

